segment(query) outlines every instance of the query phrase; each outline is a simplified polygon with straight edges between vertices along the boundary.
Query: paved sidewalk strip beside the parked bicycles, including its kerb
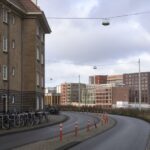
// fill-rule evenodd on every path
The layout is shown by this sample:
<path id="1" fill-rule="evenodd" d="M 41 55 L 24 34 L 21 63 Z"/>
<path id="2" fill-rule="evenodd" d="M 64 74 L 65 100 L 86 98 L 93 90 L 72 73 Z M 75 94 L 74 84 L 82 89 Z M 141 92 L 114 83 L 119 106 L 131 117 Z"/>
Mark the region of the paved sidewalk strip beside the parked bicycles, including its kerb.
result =
<path id="1" fill-rule="evenodd" d="M 31 127 L 21 127 L 21 128 L 9 129 L 9 130 L 0 130 L 0 136 L 52 126 L 52 125 L 64 122 L 67 119 L 68 119 L 68 117 L 65 115 L 62 115 L 62 114 L 60 114 L 60 115 L 49 115 L 49 122 L 43 122 L 42 124 L 31 126 Z"/>

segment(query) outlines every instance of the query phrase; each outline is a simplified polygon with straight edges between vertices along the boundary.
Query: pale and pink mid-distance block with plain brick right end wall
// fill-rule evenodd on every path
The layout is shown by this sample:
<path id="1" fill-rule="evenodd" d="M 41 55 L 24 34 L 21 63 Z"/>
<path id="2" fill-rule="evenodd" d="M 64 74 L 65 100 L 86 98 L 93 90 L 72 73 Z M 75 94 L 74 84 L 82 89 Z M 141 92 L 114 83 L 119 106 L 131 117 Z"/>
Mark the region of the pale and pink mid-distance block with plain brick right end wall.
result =
<path id="1" fill-rule="evenodd" d="M 101 108 L 112 108 L 117 102 L 129 101 L 129 89 L 126 87 L 115 87 L 113 84 L 101 84 L 86 86 L 82 91 L 82 104 L 100 106 Z"/>

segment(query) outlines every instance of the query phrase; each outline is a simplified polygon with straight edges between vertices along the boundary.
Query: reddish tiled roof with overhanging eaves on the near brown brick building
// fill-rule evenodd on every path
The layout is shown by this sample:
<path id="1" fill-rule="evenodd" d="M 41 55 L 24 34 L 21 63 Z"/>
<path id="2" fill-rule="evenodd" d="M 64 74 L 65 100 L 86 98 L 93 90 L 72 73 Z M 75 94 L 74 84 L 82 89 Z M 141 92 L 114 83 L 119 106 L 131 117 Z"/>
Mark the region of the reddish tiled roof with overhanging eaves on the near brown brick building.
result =
<path id="1" fill-rule="evenodd" d="M 51 32 L 44 12 L 36 4 L 34 4 L 32 0 L 7 0 L 7 2 L 13 5 L 16 9 L 25 13 L 25 15 L 39 15 L 40 22 L 43 22 L 42 25 L 45 28 L 45 32 Z"/>

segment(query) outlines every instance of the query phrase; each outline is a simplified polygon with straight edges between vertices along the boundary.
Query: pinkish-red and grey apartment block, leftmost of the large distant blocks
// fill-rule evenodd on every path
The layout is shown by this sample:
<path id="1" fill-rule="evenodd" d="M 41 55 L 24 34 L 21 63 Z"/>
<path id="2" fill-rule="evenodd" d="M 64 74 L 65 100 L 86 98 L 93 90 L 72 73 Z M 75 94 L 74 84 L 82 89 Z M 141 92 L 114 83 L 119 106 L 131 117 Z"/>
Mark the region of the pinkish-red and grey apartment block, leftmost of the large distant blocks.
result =
<path id="1" fill-rule="evenodd" d="M 67 105 L 72 103 L 78 103 L 81 100 L 81 91 L 85 89 L 85 87 L 86 85 L 82 83 L 61 84 L 60 104 Z"/>

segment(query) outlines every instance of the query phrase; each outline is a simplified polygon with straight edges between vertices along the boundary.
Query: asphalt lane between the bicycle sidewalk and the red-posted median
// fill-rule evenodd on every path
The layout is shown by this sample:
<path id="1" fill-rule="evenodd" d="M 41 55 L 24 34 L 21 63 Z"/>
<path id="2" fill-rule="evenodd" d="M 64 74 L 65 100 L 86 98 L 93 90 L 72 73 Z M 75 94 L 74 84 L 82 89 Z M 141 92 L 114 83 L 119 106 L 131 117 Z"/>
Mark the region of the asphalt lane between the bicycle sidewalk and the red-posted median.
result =
<path id="1" fill-rule="evenodd" d="M 87 113 L 63 112 L 70 119 L 63 124 L 63 131 L 69 132 L 74 129 L 75 122 L 78 121 L 80 128 L 86 126 L 88 120 L 93 120 L 93 117 Z M 97 120 L 98 121 L 98 120 Z M 50 139 L 59 134 L 59 125 L 52 127 L 41 128 L 33 131 L 16 133 L 0 137 L 0 150 L 8 150 L 14 147 L 36 142 L 39 140 Z"/>

